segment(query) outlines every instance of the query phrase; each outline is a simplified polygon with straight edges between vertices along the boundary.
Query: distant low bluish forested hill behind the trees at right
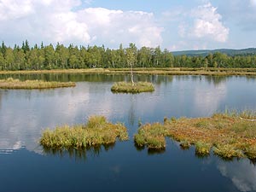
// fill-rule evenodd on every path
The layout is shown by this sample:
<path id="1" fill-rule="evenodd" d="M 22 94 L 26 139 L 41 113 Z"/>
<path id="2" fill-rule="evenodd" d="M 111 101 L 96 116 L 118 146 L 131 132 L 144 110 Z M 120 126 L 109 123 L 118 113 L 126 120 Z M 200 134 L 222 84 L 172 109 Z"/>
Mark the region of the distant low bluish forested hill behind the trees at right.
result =
<path id="1" fill-rule="evenodd" d="M 183 50 L 183 51 L 173 51 L 173 55 L 188 55 L 188 56 L 207 56 L 209 53 L 220 52 L 226 55 L 256 55 L 256 48 L 247 49 L 201 49 L 201 50 Z"/>

